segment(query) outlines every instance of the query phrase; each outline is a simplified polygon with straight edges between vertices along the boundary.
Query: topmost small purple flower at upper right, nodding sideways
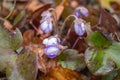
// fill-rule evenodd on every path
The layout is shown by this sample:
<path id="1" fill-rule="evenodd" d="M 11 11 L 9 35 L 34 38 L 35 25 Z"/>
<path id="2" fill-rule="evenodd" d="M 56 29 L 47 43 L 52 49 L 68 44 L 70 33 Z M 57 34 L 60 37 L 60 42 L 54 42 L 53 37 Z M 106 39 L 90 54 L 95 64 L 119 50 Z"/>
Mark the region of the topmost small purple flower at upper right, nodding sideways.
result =
<path id="1" fill-rule="evenodd" d="M 75 10 L 75 16 L 77 16 L 78 18 L 80 18 L 81 16 L 85 16 L 87 17 L 89 15 L 89 11 L 87 8 L 85 7 L 78 7 L 76 10 Z"/>

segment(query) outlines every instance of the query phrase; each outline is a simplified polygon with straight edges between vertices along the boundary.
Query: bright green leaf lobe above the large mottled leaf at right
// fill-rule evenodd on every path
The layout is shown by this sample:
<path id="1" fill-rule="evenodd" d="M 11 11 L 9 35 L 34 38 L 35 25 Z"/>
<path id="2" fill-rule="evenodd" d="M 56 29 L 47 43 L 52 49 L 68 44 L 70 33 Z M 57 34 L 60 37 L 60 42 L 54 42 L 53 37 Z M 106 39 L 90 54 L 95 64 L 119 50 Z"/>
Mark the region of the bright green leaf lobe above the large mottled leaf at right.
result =
<path id="1" fill-rule="evenodd" d="M 104 48 L 111 45 L 111 42 L 108 41 L 100 32 L 93 32 L 88 37 L 87 40 L 90 41 L 94 46 Z"/>

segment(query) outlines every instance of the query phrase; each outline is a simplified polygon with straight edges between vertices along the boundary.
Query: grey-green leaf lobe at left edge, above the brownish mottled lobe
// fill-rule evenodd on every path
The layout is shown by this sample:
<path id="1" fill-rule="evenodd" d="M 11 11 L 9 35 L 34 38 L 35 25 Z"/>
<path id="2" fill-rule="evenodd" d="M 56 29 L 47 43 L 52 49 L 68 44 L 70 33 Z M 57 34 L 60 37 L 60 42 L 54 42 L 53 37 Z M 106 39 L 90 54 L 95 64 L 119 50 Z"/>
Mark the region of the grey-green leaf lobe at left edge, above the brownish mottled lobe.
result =
<path id="1" fill-rule="evenodd" d="M 21 32 L 16 29 L 15 32 L 9 32 L 0 26 L 0 48 L 17 50 L 23 41 Z"/>

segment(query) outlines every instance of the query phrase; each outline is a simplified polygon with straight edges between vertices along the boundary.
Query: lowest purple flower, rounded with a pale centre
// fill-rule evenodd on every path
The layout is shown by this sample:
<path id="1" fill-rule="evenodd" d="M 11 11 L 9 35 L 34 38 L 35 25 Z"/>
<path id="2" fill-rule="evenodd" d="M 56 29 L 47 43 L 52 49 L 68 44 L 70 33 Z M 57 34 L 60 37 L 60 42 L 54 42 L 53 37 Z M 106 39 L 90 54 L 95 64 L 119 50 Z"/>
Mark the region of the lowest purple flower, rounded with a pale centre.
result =
<path id="1" fill-rule="evenodd" d="M 44 52 L 49 58 L 55 58 L 60 54 L 60 49 L 57 45 L 48 45 Z"/>

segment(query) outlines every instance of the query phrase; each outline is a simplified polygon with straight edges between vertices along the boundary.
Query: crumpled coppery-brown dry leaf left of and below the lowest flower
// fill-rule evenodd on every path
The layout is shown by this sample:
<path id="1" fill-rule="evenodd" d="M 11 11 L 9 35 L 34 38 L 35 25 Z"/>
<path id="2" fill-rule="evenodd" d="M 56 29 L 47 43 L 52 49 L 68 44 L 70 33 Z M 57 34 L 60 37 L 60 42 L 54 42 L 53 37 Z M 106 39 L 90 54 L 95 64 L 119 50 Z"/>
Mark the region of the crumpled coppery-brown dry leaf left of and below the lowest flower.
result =
<path id="1" fill-rule="evenodd" d="M 45 54 L 44 54 L 44 45 L 40 45 L 40 46 L 35 46 L 33 44 L 29 45 L 29 48 L 31 51 L 33 51 L 34 53 L 36 53 L 37 57 L 38 57 L 38 68 L 40 71 L 42 71 L 43 73 L 48 73 L 50 72 L 52 69 L 56 68 L 59 66 L 59 63 L 57 61 L 57 59 L 49 59 Z"/>

